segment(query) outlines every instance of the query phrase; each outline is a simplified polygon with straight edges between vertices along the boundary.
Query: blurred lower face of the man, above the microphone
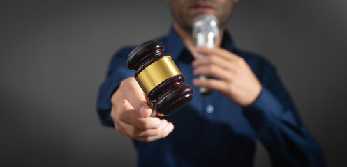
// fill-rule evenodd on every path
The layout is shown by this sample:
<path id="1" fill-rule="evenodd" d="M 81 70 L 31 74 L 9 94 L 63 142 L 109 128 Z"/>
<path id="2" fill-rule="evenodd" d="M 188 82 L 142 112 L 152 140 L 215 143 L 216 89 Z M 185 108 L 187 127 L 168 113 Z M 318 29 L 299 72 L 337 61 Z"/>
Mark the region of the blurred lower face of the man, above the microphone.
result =
<path id="1" fill-rule="evenodd" d="M 169 0 L 174 24 L 191 32 L 193 19 L 208 13 L 218 18 L 220 26 L 225 26 L 235 3 L 239 0 Z"/>

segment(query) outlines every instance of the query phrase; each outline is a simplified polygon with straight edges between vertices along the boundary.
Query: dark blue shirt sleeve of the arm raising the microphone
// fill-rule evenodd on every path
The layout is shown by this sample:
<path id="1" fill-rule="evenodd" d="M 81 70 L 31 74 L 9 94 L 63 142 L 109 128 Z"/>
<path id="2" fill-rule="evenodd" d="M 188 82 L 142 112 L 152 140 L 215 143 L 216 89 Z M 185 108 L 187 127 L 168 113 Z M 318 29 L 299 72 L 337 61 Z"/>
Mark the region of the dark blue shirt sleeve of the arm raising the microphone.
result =
<path id="1" fill-rule="evenodd" d="M 270 152 L 272 164 L 326 166 L 320 146 L 302 124 L 276 70 L 266 62 L 262 67 L 263 74 L 257 77 L 263 88 L 256 102 L 244 108 L 244 116 Z"/>

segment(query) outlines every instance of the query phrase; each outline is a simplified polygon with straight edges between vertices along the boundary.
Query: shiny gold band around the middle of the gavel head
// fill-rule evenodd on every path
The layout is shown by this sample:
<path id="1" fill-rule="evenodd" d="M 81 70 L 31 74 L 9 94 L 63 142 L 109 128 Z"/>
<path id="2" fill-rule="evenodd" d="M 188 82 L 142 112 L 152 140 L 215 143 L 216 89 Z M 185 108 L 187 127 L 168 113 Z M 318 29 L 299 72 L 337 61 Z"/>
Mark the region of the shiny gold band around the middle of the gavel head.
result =
<path id="1" fill-rule="evenodd" d="M 135 79 L 143 92 L 148 95 L 158 84 L 177 74 L 182 73 L 178 70 L 172 58 L 166 56 L 148 65 Z"/>

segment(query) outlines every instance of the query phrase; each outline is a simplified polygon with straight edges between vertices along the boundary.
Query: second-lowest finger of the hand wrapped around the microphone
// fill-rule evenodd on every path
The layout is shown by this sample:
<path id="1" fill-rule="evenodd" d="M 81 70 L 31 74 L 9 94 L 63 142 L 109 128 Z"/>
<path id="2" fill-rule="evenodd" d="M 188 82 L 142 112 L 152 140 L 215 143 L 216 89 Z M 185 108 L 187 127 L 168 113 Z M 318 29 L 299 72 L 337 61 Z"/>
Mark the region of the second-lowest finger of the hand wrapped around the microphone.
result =
<path id="1" fill-rule="evenodd" d="M 234 75 L 232 72 L 214 64 L 200 65 L 193 70 L 193 74 L 216 77 L 223 81 L 231 81 L 232 75 Z"/>

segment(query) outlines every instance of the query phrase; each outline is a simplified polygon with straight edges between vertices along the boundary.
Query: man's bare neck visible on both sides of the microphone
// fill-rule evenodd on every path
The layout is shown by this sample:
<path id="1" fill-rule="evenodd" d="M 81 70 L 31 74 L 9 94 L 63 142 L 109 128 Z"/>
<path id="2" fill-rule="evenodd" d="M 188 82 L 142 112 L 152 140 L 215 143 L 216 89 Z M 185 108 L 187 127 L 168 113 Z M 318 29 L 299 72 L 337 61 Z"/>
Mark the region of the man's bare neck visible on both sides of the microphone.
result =
<path id="1" fill-rule="evenodd" d="M 193 39 L 193 34 L 191 33 L 191 31 L 182 29 L 182 27 L 180 27 L 175 22 L 173 24 L 173 28 L 175 29 L 179 38 L 181 38 L 181 40 L 184 42 L 184 45 L 186 45 L 186 48 L 191 51 L 191 54 L 193 54 L 193 56 L 196 58 L 198 54 L 195 51 L 195 40 Z M 219 29 L 219 35 L 214 42 L 216 47 L 221 47 L 224 30 L 224 26 L 221 26 L 221 28 Z"/>

